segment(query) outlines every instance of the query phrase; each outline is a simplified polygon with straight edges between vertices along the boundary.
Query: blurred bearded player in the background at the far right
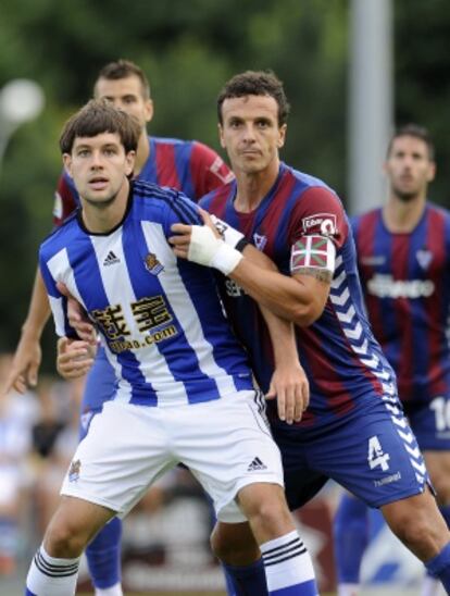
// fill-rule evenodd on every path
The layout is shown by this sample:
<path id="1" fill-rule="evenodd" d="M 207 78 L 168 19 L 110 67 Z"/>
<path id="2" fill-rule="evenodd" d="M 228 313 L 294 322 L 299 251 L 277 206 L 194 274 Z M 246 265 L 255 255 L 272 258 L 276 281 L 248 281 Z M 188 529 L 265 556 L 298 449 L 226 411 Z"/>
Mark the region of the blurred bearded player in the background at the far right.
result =
<path id="1" fill-rule="evenodd" d="M 450 214 L 427 202 L 435 176 L 428 132 L 392 136 L 384 207 L 352 220 L 358 269 L 374 334 L 397 373 L 399 396 L 450 522 Z M 345 495 L 335 518 L 339 594 L 357 594 L 368 533 L 364 504 Z M 427 576 L 423 596 L 438 591 Z"/>

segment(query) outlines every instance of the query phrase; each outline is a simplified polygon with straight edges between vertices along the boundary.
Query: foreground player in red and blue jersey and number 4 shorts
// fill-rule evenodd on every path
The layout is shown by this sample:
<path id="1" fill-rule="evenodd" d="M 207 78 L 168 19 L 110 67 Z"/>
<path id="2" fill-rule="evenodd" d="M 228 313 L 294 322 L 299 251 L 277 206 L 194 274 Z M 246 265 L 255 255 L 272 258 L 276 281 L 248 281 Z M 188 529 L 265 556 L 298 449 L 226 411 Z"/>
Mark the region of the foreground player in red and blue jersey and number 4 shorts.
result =
<path id="1" fill-rule="evenodd" d="M 288 502 L 297 508 L 328 477 L 336 480 L 379 508 L 449 593 L 450 534 L 403 415 L 393 372 L 364 314 L 342 206 L 323 182 L 280 163 L 288 104 L 272 73 L 235 76 L 217 108 L 221 141 L 236 181 L 201 206 L 242 232 L 279 269 L 261 272 L 243 258 L 222 280 L 227 313 L 262 388 L 273 363 L 255 300 L 296 323 L 310 381 L 311 401 L 300 423 L 289 426 L 271 417 Z M 178 257 L 214 266 L 224 250 L 210 227 L 175 225 L 174 232 Z M 222 560 L 242 564 L 252 548 L 248 524 L 220 522 L 213 544 Z"/>

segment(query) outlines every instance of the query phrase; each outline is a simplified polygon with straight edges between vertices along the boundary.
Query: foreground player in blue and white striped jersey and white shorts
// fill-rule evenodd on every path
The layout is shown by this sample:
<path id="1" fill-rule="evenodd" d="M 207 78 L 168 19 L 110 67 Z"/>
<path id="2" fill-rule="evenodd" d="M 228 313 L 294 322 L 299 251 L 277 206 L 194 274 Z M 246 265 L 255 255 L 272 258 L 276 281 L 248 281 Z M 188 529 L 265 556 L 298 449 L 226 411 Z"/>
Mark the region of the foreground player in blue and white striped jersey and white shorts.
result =
<path id="1" fill-rule="evenodd" d="M 279 451 L 214 276 L 176 259 L 167 240 L 173 224 L 199 223 L 198 209 L 175 190 L 128 182 L 138 136 L 133 117 L 92 100 L 60 140 L 82 209 L 42 244 L 42 277 L 58 334 L 71 332 L 62 282 L 96 322 L 117 383 L 76 450 L 26 594 L 75 594 L 79 556 L 92 536 L 183 462 L 210 494 L 217 519 L 250 521 L 270 594 L 315 596 Z M 230 248 L 215 265 L 227 274 L 241 259 Z"/>

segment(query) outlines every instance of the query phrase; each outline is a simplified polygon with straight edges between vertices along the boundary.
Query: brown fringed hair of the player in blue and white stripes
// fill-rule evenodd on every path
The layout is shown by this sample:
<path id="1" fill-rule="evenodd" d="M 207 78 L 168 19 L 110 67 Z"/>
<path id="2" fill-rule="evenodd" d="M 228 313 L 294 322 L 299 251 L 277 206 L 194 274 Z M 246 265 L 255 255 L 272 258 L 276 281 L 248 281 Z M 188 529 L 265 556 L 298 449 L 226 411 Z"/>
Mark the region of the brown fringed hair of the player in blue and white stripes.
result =
<path id="1" fill-rule="evenodd" d="M 91 99 L 64 124 L 60 137 L 62 153 L 71 153 L 77 137 L 117 133 L 125 152 L 136 151 L 141 127 L 138 121 L 103 99 Z"/>

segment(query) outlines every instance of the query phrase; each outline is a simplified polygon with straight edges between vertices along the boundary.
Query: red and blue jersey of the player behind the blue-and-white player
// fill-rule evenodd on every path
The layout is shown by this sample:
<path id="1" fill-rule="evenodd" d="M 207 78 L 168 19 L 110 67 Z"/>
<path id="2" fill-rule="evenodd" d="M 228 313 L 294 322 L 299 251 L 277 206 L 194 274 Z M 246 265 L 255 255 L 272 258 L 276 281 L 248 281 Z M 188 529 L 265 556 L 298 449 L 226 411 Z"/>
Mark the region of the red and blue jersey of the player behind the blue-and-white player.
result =
<path id="1" fill-rule="evenodd" d="M 202 142 L 160 137 L 149 137 L 149 158 L 136 179 L 171 186 L 198 200 L 233 178 L 233 173 L 218 153 Z M 61 225 L 78 204 L 74 183 L 63 172 L 55 191 L 54 225 Z"/>

